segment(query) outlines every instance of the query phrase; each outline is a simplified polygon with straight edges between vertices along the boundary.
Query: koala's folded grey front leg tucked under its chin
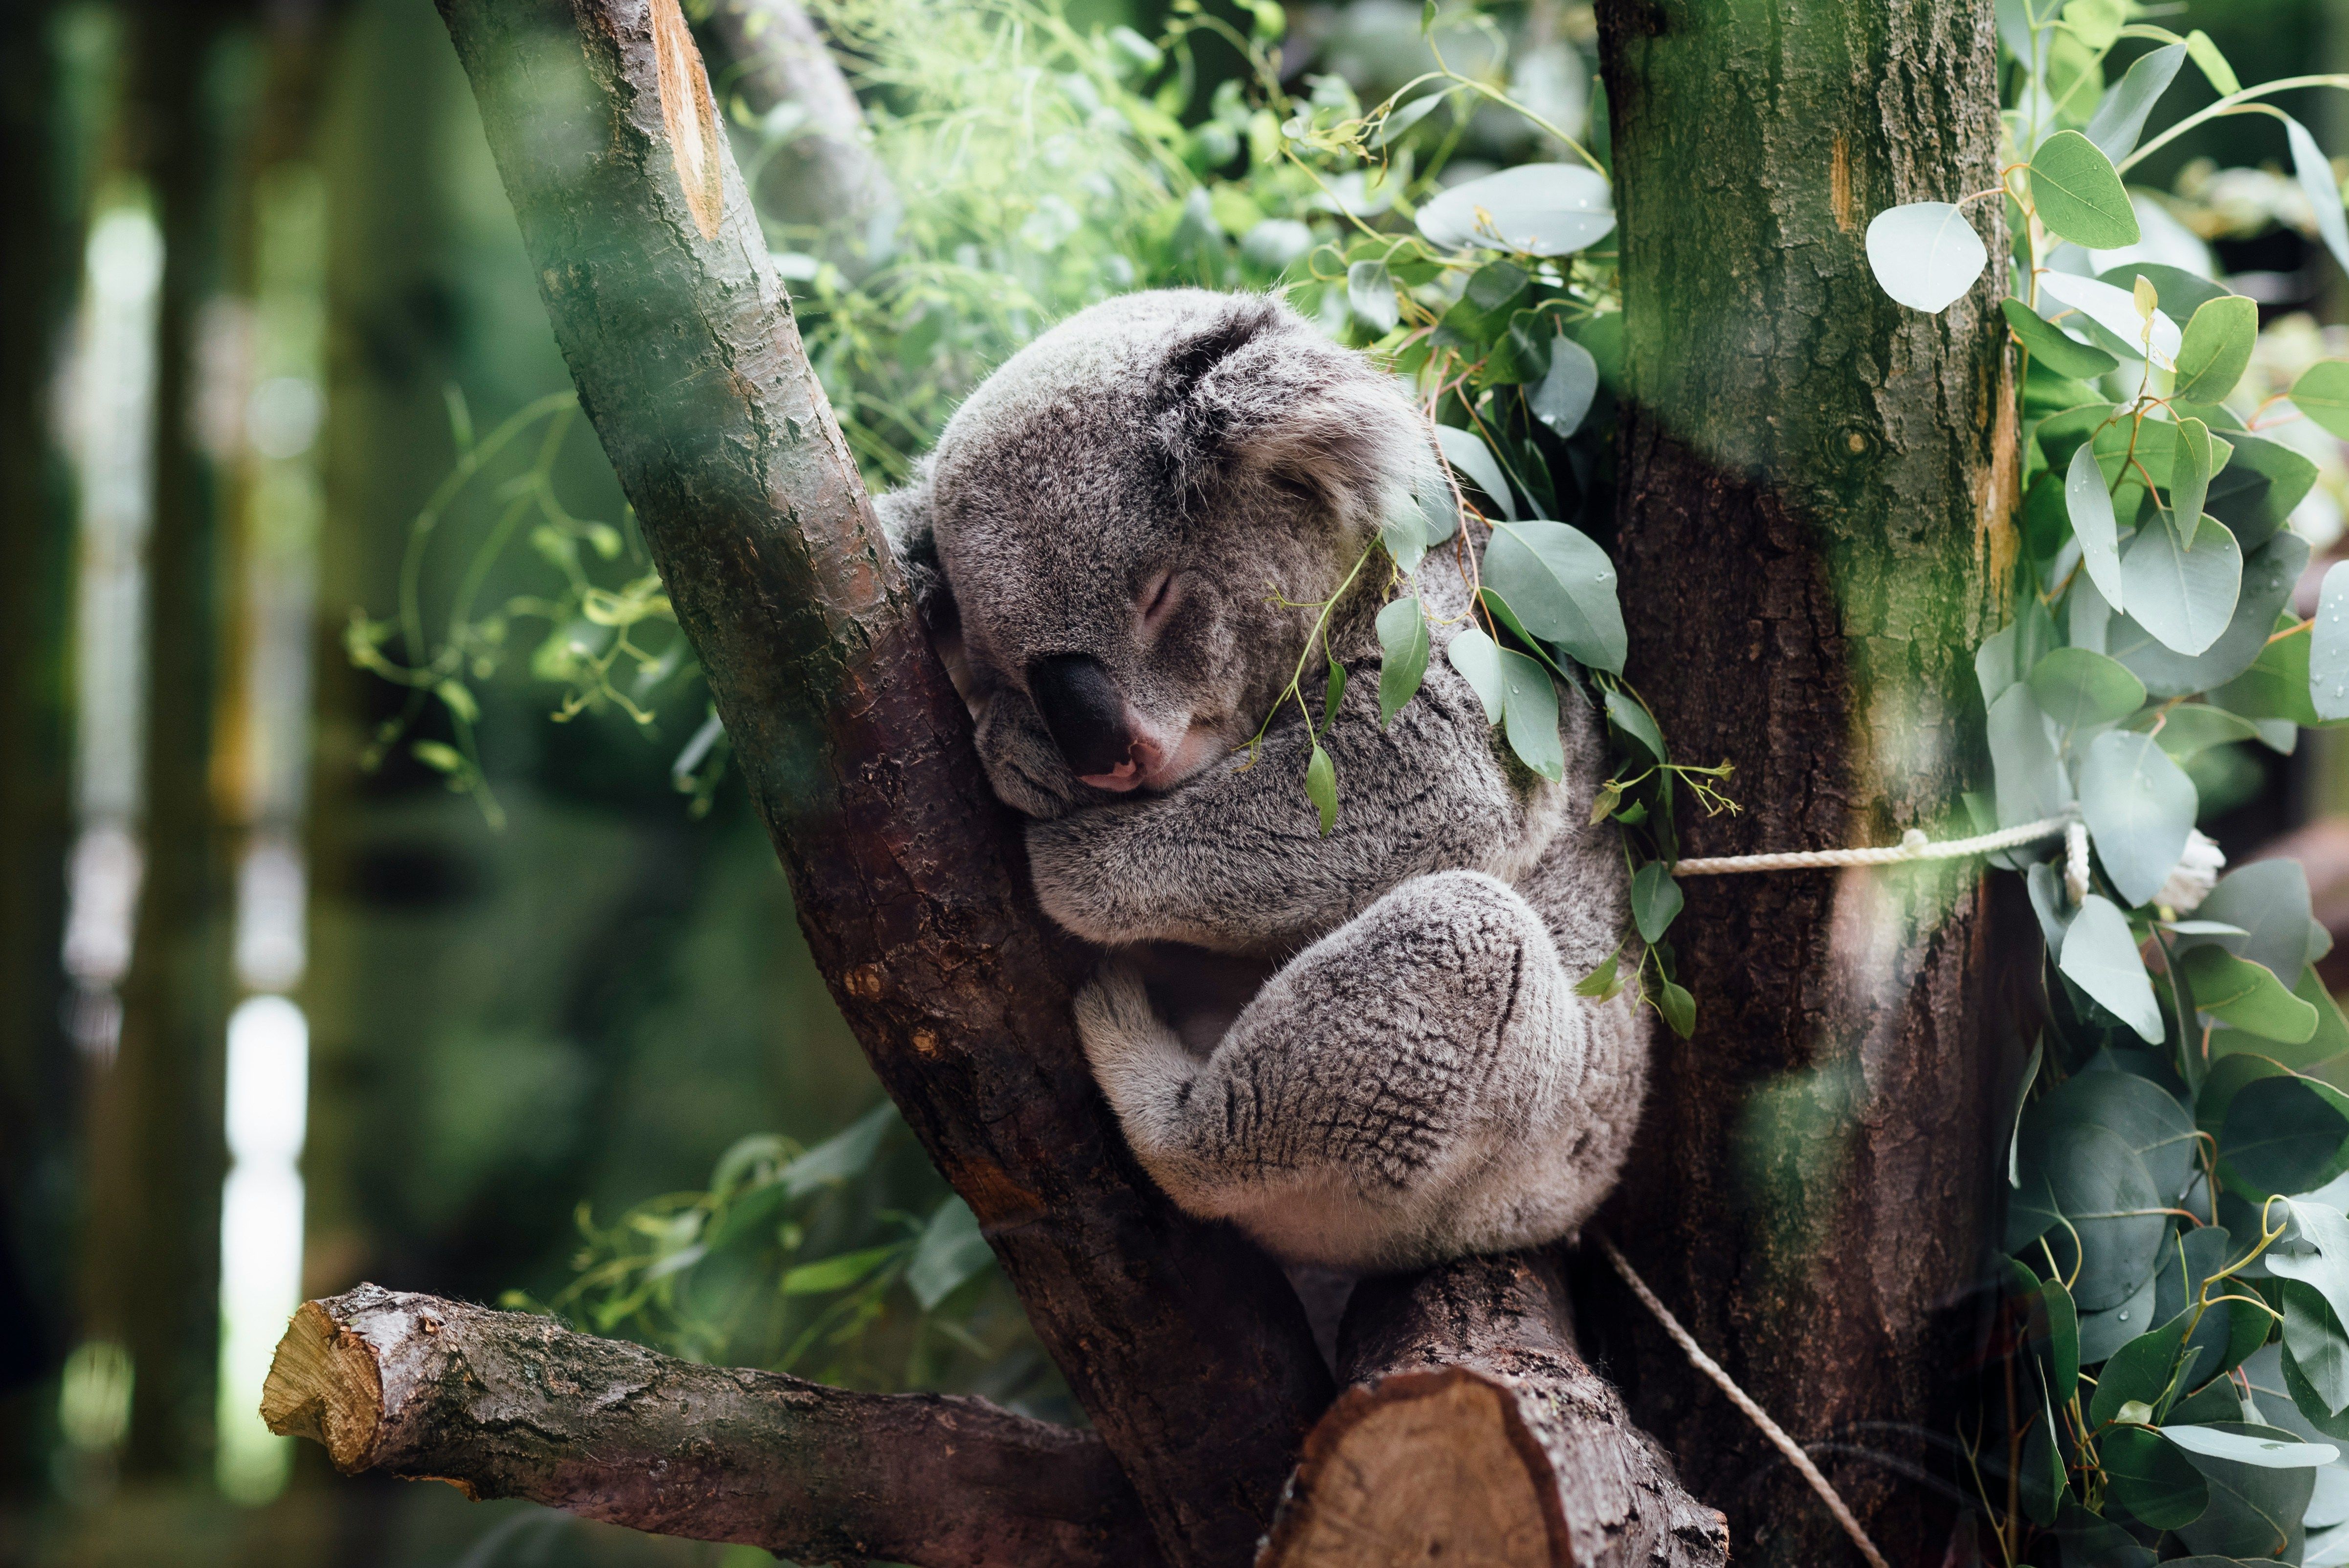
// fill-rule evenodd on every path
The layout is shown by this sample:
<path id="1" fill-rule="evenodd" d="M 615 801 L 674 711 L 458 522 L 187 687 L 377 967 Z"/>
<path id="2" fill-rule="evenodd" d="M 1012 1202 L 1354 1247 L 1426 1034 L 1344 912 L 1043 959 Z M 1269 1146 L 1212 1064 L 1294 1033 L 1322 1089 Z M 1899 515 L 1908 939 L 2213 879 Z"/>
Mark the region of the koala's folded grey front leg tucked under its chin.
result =
<path id="1" fill-rule="evenodd" d="M 1322 838 L 1304 793 L 1311 737 L 1276 728 L 1254 765 L 1214 763 L 1167 796 L 1029 824 L 1036 897 L 1102 946 L 1294 948 L 1405 878 L 1494 869 L 1525 838 L 1527 784 L 1503 772 L 1485 711 L 1447 667 L 1388 728 L 1377 669 L 1355 671 L 1322 737 L 1339 815 Z"/>

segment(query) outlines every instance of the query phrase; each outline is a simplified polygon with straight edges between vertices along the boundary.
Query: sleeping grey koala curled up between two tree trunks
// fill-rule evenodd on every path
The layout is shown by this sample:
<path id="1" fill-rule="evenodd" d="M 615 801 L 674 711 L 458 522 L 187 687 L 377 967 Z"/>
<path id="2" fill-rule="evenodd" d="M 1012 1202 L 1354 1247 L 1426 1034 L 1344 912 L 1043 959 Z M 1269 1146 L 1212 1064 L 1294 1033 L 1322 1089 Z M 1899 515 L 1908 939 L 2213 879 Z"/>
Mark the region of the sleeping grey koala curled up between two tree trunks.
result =
<path id="1" fill-rule="evenodd" d="M 1294 702 L 1243 765 L 1318 601 L 1442 484 L 1400 383 L 1278 300 L 1174 289 L 1015 354 L 881 500 L 1036 894 L 1104 948 L 1076 1021 L 1135 1155 L 1287 1263 L 1569 1235 L 1647 1087 L 1633 998 L 1574 993 L 1626 922 L 1586 826 L 1597 732 L 1569 692 L 1564 784 L 1508 756 L 1440 653 L 1454 549 L 1419 570 L 1438 653 L 1384 730 L 1384 554 L 1332 613 L 1337 829 Z"/>

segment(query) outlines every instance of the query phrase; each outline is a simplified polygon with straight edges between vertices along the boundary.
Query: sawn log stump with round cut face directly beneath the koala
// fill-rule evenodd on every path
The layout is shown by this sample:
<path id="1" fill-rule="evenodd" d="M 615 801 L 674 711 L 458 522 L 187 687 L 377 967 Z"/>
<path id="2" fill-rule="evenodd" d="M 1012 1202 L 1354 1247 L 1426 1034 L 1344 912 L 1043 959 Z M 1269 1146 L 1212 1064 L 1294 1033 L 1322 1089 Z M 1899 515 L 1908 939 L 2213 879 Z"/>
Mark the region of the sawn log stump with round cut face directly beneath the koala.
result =
<path id="1" fill-rule="evenodd" d="M 1431 1561 L 1719 1568 L 1722 1516 L 1680 1488 L 1574 1352 L 1548 1253 L 1355 1289 L 1353 1387 L 1313 1427 L 1259 1568 Z"/>

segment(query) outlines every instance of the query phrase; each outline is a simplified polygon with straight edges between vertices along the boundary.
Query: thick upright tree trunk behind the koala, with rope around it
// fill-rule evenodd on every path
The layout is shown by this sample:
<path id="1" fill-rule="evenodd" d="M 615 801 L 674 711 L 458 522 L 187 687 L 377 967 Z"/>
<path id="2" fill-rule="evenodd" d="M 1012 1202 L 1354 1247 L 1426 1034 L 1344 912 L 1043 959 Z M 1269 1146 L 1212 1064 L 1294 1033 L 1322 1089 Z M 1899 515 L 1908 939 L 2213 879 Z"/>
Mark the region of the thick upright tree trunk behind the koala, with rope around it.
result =
<path id="1" fill-rule="evenodd" d="M 1743 812 L 1691 854 L 1964 829 L 1968 650 L 2004 606 L 2013 399 L 1997 265 L 1893 305 L 1872 214 L 1997 185 L 1990 0 L 1602 0 L 1623 244 L 1630 674 Z M 1968 214 L 2004 256 L 1997 202 Z M 1698 998 L 1661 1035 L 1607 1223 L 1804 1441 L 1891 1561 L 1940 1561 L 1968 1286 L 1994 1214 L 1999 1049 L 1980 861 L 1689 885 Z M 1851 1547 L 1618 1289 L 1633 1413 L 1745 1563 Z M 1593 1324 L 1597 1326 L 1597 1324 Z"/>

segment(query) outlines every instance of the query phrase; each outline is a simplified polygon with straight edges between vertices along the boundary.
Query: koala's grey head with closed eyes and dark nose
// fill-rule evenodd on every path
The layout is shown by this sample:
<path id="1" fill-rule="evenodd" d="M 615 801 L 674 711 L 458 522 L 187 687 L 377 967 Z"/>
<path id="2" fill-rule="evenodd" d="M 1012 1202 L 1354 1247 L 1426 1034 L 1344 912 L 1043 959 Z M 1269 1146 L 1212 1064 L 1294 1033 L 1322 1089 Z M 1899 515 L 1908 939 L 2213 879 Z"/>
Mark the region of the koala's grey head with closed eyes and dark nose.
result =
<path id="1" fill-rule="evenodd" d="M 1384 376 L 1254 296 L 1125 296 L 996 371 L 930 477 L 996 793 L 1055 817 L 1229 756 L 1421 448 Z"/>

